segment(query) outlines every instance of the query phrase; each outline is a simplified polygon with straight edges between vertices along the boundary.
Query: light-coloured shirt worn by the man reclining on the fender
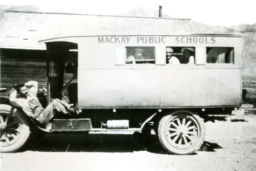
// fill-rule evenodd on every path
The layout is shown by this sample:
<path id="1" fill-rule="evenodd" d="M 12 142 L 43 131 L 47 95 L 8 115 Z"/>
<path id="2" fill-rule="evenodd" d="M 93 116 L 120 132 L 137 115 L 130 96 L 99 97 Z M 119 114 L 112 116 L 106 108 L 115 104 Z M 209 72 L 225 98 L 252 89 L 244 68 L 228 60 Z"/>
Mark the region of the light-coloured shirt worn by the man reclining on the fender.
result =
<path id="1" fill-rule="evenodd" d="M 30 87 L 30 89 L 28 91 L 29 95 L 27 97 L 17 98 L 17 91 L 14 90 L 10 94 L 10 103 L 13 104 L 14 106 L 22 108 L 22 110 L 28 116 L 30 116 L 31 114 L 33 114 L 33 112 L 32 112 L 32 109 L 31 109 L 28 101 L 30 101 L 32 98 L 34 98 L 38 101 L 38 99 L 36 97 L 38 83 L 37 83 L 37 81 L 29 81 L 29 82 L 25 83 L 25 86 Z"/>

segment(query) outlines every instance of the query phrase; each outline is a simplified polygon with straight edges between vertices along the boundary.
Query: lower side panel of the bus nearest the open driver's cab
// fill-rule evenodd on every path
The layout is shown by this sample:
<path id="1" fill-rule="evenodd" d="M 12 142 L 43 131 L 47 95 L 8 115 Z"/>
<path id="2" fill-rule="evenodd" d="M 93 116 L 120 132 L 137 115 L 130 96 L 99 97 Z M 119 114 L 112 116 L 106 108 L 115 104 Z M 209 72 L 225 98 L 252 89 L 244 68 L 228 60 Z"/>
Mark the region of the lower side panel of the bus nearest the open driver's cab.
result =
<path id="1" fill-rule="evenodd" d="M 160 70 L 78 69 L 81 108 L 160 107 Z"/>

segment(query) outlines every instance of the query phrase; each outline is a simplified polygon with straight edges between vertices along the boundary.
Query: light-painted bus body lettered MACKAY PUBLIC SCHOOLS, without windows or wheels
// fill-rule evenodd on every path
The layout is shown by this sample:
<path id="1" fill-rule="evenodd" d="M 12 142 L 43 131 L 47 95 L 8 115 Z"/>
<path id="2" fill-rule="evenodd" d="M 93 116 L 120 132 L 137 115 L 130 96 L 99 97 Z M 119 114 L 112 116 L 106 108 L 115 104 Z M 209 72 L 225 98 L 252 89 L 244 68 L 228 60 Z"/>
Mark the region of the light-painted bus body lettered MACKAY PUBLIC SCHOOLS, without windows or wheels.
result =
<path id="1" fill-rule="evenodd" d="M 44 42 L 48 41 L 78 44 L 81 108 L 207 108 L 241 103 L 238 35 L 78 36 Z M 142 46 L 154 47 L 155 64 L 125 64 L 125 48 Z M 166 64 L 167 46 L 195 47 L 195 64 Z M 206 47 L 233 47 L 233 63 L 207 63 Z"/>

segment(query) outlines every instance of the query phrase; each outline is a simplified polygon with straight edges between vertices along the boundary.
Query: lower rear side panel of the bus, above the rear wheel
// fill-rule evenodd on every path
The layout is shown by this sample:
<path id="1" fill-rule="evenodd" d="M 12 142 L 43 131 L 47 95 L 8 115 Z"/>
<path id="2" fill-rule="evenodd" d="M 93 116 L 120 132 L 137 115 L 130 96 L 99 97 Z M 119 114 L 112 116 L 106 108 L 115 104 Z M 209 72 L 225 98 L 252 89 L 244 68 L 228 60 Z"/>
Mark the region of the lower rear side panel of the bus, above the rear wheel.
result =
<path id="1" fill-rule="evenodd" d="M 239 106 L 240 68 L 162 70 L 161 107 Z"/>

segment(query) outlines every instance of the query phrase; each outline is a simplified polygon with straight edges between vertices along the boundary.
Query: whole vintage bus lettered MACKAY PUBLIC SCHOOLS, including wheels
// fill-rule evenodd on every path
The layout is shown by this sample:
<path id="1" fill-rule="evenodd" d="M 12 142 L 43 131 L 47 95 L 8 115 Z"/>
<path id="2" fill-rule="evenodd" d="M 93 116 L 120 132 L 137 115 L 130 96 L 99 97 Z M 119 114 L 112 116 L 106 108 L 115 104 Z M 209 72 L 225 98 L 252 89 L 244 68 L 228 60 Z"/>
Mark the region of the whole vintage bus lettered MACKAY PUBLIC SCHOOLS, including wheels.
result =
<path id="1" fill-rule="evenodd" d="M 48 103 L 62 99 L 67 87 L 79 116 L 54 118 L 46 130 L 20 109 L 1 104 L 2 152 L 20 148 L 35 128 L 145 134 L 152 129 L 168 152 L 189 154 L 204 142 L 202 119 L 231 114 L 241 105 L 240 35 L 90 35 L 40 42 L 47 46 Z M 65 72 L 73 73 L 70 81 Z"/>

